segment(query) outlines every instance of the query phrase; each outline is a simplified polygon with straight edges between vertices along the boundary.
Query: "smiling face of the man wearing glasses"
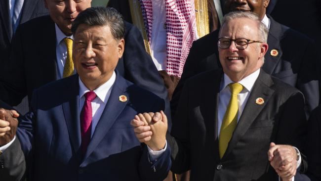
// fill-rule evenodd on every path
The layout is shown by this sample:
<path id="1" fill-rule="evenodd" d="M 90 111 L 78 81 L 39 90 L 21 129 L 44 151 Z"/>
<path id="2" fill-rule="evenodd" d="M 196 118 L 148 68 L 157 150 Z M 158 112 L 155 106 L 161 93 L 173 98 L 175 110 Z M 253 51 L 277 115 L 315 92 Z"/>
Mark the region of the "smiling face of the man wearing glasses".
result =
<path id="1" fill-rule="evenodd" d="M 230 20 L 222 26 L 219 34 L 219 38 L 221 37 L 259 41 L 258 23 L 247 18 Z M 239 82 L 263 65 L 263 56 L 267 49 L 266 43 L 252 43 L 245 49 L 239 50 L 234 42 L 226 49 L 218 48 L 224 73 L 232 81 Z"/>

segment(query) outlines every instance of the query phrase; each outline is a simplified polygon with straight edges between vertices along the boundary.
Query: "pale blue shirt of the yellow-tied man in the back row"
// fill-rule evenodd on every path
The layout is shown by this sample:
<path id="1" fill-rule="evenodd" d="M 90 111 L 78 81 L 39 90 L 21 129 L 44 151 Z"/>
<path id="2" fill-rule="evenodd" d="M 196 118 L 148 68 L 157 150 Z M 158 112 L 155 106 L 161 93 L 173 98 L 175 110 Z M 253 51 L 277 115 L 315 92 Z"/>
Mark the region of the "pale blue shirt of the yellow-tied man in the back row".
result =
<path id="1" fill-rule="evenodd" d="M 67 58 L 67 46 L 64 42 L 64 38 L 70 38 L 74 40 L 73 35 L 66 36 L 55 23 L 56 29 L 56 60 L 57 60 L 57 80 L 62 79 L 64 73 L 64 66 Z M 76 73 L 76 70 L 74 70 Z"/>

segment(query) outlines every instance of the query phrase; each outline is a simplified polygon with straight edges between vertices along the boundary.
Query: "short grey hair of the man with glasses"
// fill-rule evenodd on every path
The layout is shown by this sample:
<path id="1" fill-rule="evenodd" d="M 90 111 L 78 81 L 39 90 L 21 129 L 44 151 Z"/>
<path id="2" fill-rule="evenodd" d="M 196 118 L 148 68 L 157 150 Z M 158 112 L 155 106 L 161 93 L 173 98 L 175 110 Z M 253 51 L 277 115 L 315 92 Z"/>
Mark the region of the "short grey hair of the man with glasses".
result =
<path id="1" fill-rule="evenodd" d="M 269 30 L 253 12 L 232 11 L 224 16 L 221 27 L 229 21 L 238 18 L 247 18 L 256 21 L 258 24 L 259 41 L 262 41 L 263 43 L 267 42 Z"/>

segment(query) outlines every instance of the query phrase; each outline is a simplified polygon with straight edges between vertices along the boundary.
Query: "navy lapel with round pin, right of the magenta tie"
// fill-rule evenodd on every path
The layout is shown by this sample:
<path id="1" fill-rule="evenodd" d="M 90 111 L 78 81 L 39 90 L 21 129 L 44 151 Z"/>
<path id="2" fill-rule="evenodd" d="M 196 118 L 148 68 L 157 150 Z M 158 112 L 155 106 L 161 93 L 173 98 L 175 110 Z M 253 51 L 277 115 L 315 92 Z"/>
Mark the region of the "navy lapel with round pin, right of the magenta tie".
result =
<path id="1" fill-rule="evenodd" d="M 93 152 L 99 142 L 108 133 L 109 129 L 113 126 L 122 110 L 127 105 L 127 102 L 121 102 L 119 100 L 120 95 L 125 95 L 127 100 L 130 100 L 128 93 L 126 92 L 127 84 L 125 80 L 116 73 L 116 81 L 114 87 L 108 99 L 108 102 L 104 108 L 104 111 L 98 121 L 94 134 L 91 137 L 90 143 L 87 148 L 87 152 L 84 156 L 84 160 Z"/>

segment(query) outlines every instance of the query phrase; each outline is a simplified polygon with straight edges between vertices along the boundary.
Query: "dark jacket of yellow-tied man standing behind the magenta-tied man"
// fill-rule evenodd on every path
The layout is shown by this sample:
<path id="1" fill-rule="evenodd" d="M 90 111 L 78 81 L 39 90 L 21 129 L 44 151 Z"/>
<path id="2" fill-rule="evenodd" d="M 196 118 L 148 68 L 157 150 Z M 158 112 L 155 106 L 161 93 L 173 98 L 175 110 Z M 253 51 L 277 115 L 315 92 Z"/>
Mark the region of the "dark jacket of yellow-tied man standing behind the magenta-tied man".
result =
<path id="1" fill-rule="evenodd" d="M 131 24 L 125 25 L 125 51 L 117 70 L 125 79 L 163 98 L 169 115 L 167 90 L 145 51 L 141 34 Z M 56 80 L 56 33 L 50 16 L 22 24 L 17 29 L 12 46 L 10 61 L 1 68 L 0 98 L 10 105 L 17 105 L 26 95 L 30 101 L 33 90 Z"/>

